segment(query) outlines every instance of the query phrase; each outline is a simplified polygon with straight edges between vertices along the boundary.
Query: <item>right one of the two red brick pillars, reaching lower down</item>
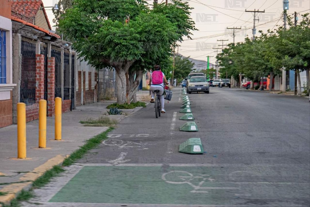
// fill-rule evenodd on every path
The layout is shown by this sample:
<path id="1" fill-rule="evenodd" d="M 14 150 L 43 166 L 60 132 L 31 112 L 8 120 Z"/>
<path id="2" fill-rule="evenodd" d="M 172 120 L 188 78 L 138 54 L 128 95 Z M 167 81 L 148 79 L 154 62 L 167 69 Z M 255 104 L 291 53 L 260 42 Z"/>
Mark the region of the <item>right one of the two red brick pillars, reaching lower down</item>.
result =
<path id="1" fill-rule="evenodd" d="M 55 115 L 55 58 L 47 59 L 47 116 Z"/>

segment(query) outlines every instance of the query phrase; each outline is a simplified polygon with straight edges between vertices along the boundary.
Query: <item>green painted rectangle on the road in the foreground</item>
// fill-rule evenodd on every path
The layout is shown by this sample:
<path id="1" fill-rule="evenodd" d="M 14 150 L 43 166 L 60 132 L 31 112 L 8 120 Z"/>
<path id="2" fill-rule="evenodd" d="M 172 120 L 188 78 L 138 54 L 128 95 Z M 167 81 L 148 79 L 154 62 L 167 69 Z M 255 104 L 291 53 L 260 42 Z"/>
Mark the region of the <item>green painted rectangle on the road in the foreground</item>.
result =
<path id="1" fill-rule="evenodd" d="M 49 202 L 123 204 L 224 204 L 237 184 L 219 185 L 214 168 L 84 166 Z"/>

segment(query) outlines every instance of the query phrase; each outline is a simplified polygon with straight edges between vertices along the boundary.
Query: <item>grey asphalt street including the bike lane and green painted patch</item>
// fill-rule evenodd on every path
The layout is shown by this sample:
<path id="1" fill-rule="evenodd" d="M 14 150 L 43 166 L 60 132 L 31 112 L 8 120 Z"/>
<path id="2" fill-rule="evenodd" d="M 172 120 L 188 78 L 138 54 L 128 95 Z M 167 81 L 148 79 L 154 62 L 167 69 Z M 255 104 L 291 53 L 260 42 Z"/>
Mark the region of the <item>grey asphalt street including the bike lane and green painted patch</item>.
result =
<path id="1" fill-rule="evenodd" d="M 22 206 L 309 206 L 308 99 L 233 88 L 188 94 L 199 131 L 179 131 L 181 88 L 120 122 Z M 199 137 L 204 154 L 179 153 Z"/>

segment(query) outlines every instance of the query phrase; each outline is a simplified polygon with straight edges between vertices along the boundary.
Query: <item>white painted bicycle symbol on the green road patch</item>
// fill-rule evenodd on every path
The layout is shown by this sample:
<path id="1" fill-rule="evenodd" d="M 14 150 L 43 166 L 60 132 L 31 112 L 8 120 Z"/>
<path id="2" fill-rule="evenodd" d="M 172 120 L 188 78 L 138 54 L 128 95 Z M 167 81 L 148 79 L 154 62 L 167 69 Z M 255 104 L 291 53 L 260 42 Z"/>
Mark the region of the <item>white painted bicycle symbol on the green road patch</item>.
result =
<path id="1" fill-rule="evenodd" d="M 237 189 L 235 187 L 202 187 L 205 182 L 215 182 L 215 179 L 210 178 L 210 175 L 205 173 L 197 173 L 194 176 L 186 171 L 174 170 L 169 173 L 162 174 L 162 180 L 170 184 L 188 184 L 193 187 L 191 193 L 208 193 L 208 189 Z"/>

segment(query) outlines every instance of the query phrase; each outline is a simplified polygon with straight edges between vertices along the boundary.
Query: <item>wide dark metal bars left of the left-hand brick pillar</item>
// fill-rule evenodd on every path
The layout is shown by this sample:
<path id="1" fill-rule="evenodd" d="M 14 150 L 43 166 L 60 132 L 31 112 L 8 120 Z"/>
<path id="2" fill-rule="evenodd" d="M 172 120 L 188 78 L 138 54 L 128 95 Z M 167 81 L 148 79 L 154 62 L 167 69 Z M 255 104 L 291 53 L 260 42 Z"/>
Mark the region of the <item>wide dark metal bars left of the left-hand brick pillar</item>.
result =
<path id="1" fill-rule="evenodd" d="M 35 103 L 36 94 L 36 44 L 33 39 L 21 38 L 20 102 Z"/>

